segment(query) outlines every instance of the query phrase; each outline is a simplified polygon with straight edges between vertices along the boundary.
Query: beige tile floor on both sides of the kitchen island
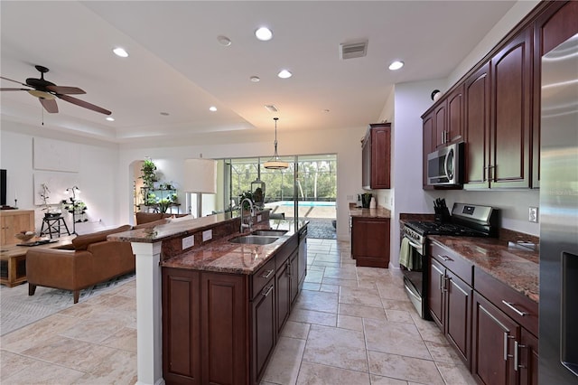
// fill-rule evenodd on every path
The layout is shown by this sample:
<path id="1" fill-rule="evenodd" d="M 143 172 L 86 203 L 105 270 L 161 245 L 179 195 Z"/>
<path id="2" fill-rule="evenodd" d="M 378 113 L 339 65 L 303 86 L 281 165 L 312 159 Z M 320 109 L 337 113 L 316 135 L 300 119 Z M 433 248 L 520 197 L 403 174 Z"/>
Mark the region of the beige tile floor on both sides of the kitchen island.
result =
<path id="1" fill-rule="evenodd" d="M 475 384 L 388 269 L 356 268 L 349 242 L 309 239 L 303 292 L 262 385 Z M 134 384 L 135 282 L 0 338 L 0 383 Z"/>

